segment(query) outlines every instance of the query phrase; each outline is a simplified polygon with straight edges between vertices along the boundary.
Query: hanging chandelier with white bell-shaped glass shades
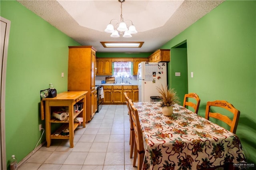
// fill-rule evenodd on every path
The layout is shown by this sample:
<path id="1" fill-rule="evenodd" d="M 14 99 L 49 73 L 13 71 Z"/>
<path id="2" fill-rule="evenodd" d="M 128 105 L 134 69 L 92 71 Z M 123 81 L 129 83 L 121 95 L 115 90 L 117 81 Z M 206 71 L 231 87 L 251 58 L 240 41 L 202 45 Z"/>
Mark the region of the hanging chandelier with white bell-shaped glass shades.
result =
<path id="1" fill-rule="evenodd" d="M 130 21 L 132 23 L 132 21 L 131 20 L 124 21 L 124 18 L 123 18 L 123 15 L 122 15 L 122 3 L 125 0 L 118 0 L 118 1 L 121 2 L 120 22 L 118 22 L 118 20 L 116 20 L 116 19 L 110 20 L 110 23 L 108 24 L 107 28 L 105 29 L 105 32 L 112 33 L 110 35 L 110 37 L 114 37 L 114 38 L 118 38 L 118 37 L 120 37 L 120 35 L 123 35 L 124 38 L 130 38 L 130 37 L 132 37 L 131 34 L 136 34 L 137 31 L 136 31 L 136 28 L 133 24 L 131 24 L 129 26 L 129 29 L 127 28 L 127 25 L 126 25 L 125 22 Z M 115 27 L 113 26 L 112 21 L 117 22 Z M 116 29 L 117 26 L 118 26 L 118 28 Z"/>

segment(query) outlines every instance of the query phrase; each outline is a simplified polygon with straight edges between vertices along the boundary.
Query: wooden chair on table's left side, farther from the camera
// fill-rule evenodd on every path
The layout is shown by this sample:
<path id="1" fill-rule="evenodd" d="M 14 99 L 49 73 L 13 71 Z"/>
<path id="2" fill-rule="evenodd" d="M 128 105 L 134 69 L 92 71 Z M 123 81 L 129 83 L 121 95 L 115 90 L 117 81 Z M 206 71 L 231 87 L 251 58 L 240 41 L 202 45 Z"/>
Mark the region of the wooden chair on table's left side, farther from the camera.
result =
<path id="1" fill-rule="evenodd" d="M 132 116 L 131 116 L 131 109 L 129 107 L 129 97 L 126 92 L 124 92 L 124 97 L 126 100 L 126 105 L 128 108 L 128 115 L 129 115 L 129 121 L 130 121 L 130 158 L 132 158 L 133 150 L 134 150 L 134 128 L 133 128 L 133 123 L 132 123 Z"/>

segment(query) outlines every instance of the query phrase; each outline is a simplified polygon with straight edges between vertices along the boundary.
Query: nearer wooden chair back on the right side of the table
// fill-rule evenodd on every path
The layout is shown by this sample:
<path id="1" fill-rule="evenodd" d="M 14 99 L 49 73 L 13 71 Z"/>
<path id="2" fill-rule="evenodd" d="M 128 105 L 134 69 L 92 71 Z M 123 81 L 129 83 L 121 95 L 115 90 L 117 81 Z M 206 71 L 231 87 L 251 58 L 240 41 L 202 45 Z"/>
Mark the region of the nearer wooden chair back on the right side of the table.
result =
<path id="1" fill-rule="evenodd" d="M 211 107 L 221 107 L 223 109 L 226 109 L 234 114 L 233 119 L 230 119 L 226 115 L 222 115 L 221 113 L 213 113 L 210 111 Z M 230 126 L 230 132 L 236 133 L 236 128 L 238 125 L 238 120 L 240 117 L 240 111 L 237 110 L 231 103 L 228 103 L 224 100 L 216 100 L 216 101 L 208 101 L 206 104 L 206 111 L 205 111 L 205 119 L 209 120 L 209 117 L 213 117 L 215 119 L 218 119 L 220 121 L 225 122 Z"/>

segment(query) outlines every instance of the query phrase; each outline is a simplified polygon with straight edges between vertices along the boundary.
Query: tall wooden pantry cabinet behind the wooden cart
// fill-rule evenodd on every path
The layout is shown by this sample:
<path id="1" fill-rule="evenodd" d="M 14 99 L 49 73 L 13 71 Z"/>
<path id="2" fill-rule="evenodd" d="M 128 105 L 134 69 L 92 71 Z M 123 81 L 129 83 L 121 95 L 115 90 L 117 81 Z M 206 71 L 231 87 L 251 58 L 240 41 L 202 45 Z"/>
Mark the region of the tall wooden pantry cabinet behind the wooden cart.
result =
<path id="1" fill-rule="evenodd" d="M 69 46 L 68 91 L 88 91 L 86 94 L 86 123 L 95 114 L 95 59 L 92 46 Z"/>

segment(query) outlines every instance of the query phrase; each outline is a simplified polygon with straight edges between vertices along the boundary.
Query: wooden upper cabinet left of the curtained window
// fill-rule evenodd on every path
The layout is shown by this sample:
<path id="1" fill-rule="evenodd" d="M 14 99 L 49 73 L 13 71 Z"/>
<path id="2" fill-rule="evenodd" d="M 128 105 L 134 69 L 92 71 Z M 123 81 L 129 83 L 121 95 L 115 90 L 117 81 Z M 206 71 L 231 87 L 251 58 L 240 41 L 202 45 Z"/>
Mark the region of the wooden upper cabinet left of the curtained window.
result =
<path id="1" fill-rule="evenodd" d="M 112 75 L 112 60 L 111 59 L 97 59 L 96 75 Z"/>

